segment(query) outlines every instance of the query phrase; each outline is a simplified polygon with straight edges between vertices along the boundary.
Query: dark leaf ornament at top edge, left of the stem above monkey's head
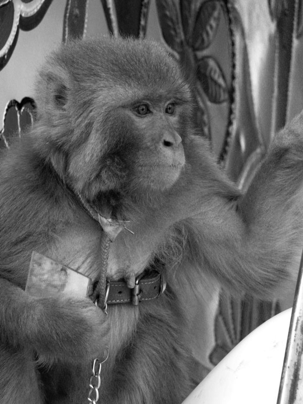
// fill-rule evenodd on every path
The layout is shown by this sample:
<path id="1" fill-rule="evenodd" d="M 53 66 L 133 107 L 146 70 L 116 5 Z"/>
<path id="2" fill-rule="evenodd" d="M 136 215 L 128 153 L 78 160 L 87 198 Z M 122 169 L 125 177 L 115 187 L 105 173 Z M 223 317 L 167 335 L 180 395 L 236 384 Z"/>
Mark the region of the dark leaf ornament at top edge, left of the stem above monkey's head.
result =
<path id="1" fill-rule="evenodd" d="M 163 39 L 174 51 L 180 53 L 183 44 L 178 2 L 176 0 L 156 0 Z"/>

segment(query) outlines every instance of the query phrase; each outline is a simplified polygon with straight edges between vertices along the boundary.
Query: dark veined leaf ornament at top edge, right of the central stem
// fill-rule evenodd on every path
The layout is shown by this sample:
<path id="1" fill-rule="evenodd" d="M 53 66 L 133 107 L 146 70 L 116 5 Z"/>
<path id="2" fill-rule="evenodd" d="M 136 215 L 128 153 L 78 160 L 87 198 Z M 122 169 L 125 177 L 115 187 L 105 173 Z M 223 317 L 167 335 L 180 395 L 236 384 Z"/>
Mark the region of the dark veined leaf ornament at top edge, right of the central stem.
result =
<path id="1" fill-rule="evenodd" d="M 197 12 L 192 32 L 194 51 L 203 51 L 212 43 L 220 22 L 221 6 L 219 2 L 208 1 Z"/>

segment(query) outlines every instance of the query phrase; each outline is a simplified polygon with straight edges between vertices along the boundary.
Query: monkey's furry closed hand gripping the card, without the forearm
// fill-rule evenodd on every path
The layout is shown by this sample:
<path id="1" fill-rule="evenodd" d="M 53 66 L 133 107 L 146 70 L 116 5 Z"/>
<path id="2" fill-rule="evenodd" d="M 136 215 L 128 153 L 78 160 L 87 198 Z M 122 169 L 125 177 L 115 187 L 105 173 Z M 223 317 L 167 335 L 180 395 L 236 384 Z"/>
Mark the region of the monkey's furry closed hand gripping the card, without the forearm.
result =
<path id="1" fill-rule="evenodd" d="M 40 298 L 34 302 L 39 331 L 29 338 L 40 358 L 81 362 L 98 356 L 106 344 L 106 315 L 91 300 Z"/>

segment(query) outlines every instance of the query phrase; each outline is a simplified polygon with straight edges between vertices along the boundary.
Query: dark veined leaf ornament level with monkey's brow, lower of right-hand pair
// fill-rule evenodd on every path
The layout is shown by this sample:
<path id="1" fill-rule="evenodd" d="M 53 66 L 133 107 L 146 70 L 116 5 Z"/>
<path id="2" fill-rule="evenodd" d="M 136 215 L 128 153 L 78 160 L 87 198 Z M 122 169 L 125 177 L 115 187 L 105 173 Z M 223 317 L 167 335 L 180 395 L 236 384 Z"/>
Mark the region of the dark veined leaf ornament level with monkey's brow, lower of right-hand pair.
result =
<path id="1" fill-rule="evenodd" d="M 228 100 L 227 84 L 215 59 L 208 56 L 199 60 L 197 78 L 211 103 L 221 104 Z"/>

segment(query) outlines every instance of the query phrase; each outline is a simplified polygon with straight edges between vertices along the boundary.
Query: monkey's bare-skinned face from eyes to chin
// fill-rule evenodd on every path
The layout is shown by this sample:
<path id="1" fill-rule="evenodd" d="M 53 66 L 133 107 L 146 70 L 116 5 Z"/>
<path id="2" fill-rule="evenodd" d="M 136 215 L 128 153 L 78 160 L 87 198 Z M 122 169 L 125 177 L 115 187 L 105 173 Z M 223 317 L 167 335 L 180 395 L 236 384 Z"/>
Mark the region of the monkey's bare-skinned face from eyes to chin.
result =
<path id="1" fill-rule="evenodd" d="M 179 178 L 185 165 L 179 134 L 182 108 L 174 99 L 157 102 L 143 99 L 125 109 L 133 122 L 136 138 L 136 159 L 132 168 L 134 185 L 164 190 Z"/>

